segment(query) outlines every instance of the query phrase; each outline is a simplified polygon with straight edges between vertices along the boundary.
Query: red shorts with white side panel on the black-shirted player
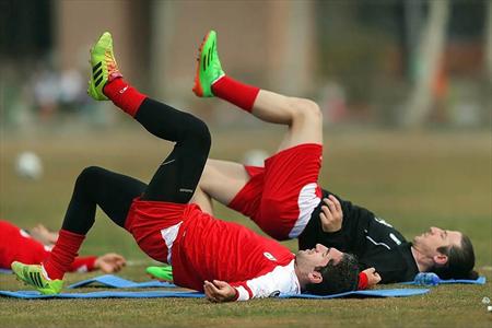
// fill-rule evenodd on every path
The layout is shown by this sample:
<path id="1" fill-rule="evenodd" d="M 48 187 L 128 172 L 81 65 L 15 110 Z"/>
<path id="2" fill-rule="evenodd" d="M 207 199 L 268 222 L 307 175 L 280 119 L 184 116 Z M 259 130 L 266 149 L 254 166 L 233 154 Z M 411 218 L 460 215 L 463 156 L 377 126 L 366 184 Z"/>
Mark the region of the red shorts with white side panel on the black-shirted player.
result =
<path id="1" fill-rule="evenodd" d="M 305 143 L 267 159 L 265 168 L 245 166 L 250 179 L 229 207 L 278 241 L 296 238 L 321 201 L 321 160 L 323 145 Z"/>

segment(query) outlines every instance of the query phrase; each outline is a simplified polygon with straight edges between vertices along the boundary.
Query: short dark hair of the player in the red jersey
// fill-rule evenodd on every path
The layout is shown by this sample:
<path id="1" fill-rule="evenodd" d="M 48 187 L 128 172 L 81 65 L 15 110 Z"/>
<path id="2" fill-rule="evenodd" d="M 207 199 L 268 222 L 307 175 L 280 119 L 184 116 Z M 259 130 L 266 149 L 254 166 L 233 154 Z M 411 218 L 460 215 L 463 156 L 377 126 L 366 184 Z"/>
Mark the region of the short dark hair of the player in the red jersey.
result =
<path id="1" fill-rule="evenodd" d="M 329 295 L 358 289 L 359 262 L 351 254 L 343 254 L 337 265 L 330 260 L 325 267 L 318 267 L 315 270 L 321 273 L 323 281 L 306 285 L 306 291 L 312 294 Z"/>

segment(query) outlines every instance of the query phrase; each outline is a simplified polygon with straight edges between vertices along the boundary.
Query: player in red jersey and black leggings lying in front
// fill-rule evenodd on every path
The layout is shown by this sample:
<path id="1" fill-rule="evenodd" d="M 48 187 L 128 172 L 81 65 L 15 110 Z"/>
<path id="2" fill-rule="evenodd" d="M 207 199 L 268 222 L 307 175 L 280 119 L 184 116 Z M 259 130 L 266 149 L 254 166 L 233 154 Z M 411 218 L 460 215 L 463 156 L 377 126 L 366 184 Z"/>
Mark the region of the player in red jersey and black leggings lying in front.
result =
<path id="1" fill-rule="evenodd" d="M 104 33 L 92 48 L 91 65 L 89 94 L 93 98 L 113 101 L 149 132 L 175 142 L 175 147 L 149 185 L 104 168 L 85 168 L 77 179 L 50 256 L 42 266 L 12 263 L 21 280 L 42 293 L 59 293 L 63 274 L 99 206 L 133 235 L 145 254 L 173 263 L 176 284 L 204 291 L 213 302 L 356 289 L 358 263 L 353 256 L 323 245 L 293 255 L 273 239 L 204 213 L 199 207 L 210 201 L 204 195 L 202 200 L 190 203 L 210 150 L 208 127 L 128 84 L 117 68 L 109 33 Z"/>

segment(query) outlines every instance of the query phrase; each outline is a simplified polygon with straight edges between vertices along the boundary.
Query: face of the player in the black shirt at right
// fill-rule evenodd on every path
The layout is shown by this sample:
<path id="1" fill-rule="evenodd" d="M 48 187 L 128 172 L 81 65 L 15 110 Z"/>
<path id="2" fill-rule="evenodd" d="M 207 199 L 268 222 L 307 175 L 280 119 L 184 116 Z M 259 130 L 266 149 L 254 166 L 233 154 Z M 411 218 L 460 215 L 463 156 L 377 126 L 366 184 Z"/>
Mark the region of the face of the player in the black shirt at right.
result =
<path id="1" fill-rule="evenodd" d="M 437 248 L 461 245 L 461 233 L 431 226 L 429 231 L 413 238 L 413 247 L 427 257 L 438 255 Z"/>

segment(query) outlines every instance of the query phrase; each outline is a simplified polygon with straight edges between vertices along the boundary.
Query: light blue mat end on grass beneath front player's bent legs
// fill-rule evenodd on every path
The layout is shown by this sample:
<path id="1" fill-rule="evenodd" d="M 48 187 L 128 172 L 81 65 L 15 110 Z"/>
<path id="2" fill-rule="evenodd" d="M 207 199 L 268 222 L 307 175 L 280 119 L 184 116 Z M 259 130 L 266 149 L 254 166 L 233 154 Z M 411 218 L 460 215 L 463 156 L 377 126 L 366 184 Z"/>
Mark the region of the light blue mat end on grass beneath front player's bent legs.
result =
<path id="1" fill-rule="evenodd" d="M 69 289 L 77 289 L 82 286 L 87 286 L 90 284 L 97 283 L 103 286 L 114 288 L 114 289 L 145 289 L 145 288 L 174 288 L 176 286 L 169 282 L 163 282 L 157 280 L 145 281 L 145 282 L 134 282 L 113 274 L 104 274 L 99 277 L 94 277 L 87 280 L 83 280 L 69 285 Z"/>

